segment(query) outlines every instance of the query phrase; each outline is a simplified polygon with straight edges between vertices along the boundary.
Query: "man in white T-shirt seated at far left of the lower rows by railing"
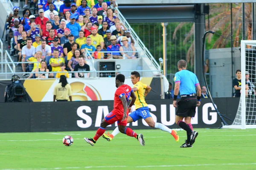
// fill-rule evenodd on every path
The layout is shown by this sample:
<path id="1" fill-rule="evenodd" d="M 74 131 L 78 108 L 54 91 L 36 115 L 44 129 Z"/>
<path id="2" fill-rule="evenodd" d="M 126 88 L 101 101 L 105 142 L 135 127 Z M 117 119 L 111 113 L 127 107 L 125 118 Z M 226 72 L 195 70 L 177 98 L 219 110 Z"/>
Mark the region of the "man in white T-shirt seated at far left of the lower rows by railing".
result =
<path id="1" fill-rule="evenodd" d="M 27 38 L 26 45 L 21 50 L 22 54 L 22 62 L 25 62 L 26 57 L 34 57 L 35 56 L 35 47 L 32 46 L 32 39 Z M 26 72 L 26 64 L 22 63 L 22 70 Z M 22 76 L 26 76 L 26 74 L 22 74 Z"/>

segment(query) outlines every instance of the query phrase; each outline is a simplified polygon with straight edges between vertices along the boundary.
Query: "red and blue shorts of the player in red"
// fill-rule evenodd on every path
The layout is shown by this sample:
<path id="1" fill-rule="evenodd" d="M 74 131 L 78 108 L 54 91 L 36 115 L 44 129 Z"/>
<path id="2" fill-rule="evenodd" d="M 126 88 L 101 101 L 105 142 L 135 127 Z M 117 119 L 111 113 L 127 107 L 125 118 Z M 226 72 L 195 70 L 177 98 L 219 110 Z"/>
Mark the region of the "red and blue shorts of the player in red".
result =
<path id="1" fill-rule="evenodd" d="M 129 114 L 129 111 L 127 109 L 127 117 Z M 107 122 L 109 125 L 112 125 L 113 123 L 115 123 L 117 121 L 117 125 L 122 125 L 122 126 L 126 126 L 127 124 L 127 118 L 122 121 L 124 114 L 120 113 L 120 112 L 116 112 L 115 110 L 111 111 L 110 113 L 108 113 L 107 116 L 105 116 L 105 122 Z"/>

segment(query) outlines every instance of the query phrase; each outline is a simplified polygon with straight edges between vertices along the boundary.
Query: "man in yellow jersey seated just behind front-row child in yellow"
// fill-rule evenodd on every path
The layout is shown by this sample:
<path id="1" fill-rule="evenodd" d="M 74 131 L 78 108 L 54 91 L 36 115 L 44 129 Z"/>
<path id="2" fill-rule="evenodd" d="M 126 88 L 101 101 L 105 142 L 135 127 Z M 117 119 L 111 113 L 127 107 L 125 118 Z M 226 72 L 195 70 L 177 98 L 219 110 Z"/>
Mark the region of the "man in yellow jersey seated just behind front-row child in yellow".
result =
<path id="1" fill-rule="evenodd" d="M 61 68 L 60 68 L 60 63 L 61 62 L 64 62 L 65 63 L 65 60 L 64 60 L 64 58 L 59 58 L 59 51 L 58 51 L 58 49 L 54 49 L 53 50 L 53 57 L 54 58 L 50 58 L 50 60 L 49 60 L 49 63 L 50 63 L 50 65 L 51 65 L 51 67 L 52 67 L 52 72 L 57 72 L 57 71 L 59 71 Z M 52 77 L 55 77 L 55 75 L 56 75 L 56 73 L 55 74 L 49 74 L 49 77 L 50 78 L 52 78 Z"/>

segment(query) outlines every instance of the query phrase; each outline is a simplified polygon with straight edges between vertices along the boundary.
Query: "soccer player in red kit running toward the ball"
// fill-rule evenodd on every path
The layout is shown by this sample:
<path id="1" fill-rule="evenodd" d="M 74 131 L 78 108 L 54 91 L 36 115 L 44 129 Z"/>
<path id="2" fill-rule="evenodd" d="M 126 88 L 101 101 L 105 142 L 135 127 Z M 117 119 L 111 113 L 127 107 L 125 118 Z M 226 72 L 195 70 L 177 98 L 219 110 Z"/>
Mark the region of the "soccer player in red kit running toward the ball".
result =
<path id="1" fill-rule="evenodd" d="M 128 116 L 128 104 L 129 98 L 131 96 L 131 102 L 129 107 L 134 105 L 136 100 L 136 95 L 130 86 L 125 85 L 125 76 L 123 74 L 118 74 L 116 76 L 116 92 L 114 96 L 114 109 L 102 120 L 99 129 L 97 130 L 95 136 L 93 138 L 84 138 L 84 140 L 94 146 L 96 141 L 106 130 L 108 125 L 111 125 L 117 121 L 117 125 L 119 131 L 121 133 L 126 134 L 127 136 L 131 136 L 136 138 L 142 146 L 145 146 L 145 141 L 143 139 L 143 135 L 135 133 L 131 128 L 126 127 L 127 124 L 127 116 Z"/>

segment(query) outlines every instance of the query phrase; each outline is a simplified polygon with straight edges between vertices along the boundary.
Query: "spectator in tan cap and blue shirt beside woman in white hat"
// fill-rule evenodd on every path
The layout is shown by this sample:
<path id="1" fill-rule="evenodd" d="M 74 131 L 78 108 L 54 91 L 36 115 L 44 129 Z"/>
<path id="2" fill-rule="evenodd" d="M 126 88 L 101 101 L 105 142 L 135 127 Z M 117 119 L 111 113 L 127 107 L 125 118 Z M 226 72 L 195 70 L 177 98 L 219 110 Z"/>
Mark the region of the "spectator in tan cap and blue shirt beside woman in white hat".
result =
<path id="1" fill-rule="evenodd" d="M 116 44 L 116 36 L 112 35 L 110 37 L 110 40 L 111 40 L 111 45 L 108 45 L 107 51 L 108 52 L 118 51 L 118 52 L 107 53 L 108 59 L 110 59 L 110 58 L 122 59 L 122 56 L 119 53 L 120 44 Z"/>

